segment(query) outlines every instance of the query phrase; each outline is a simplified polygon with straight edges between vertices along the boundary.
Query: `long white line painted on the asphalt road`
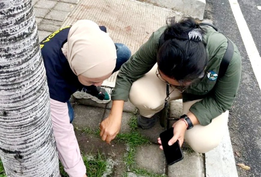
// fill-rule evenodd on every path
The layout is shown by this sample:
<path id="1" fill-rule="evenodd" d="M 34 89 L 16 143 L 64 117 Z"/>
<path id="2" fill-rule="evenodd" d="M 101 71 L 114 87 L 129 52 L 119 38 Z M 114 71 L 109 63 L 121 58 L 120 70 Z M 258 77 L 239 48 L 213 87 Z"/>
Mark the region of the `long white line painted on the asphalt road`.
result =
<path id="1" fill-rule="evenodd" d="M 248 29 L 247 22 L 245 21 L 244 16 L 241 12 L 238 1 L 229 0 L 229 3 L 234 14 L 235 21 L 238 25 L 238 29 L 241 34 L 242 40 L 244 42 L 244 46 L 246 48 L 247 55 L 252 65 L 254 74 L 256 76 L 256 80 L 261 90 L 261 57 L 258 53 L 258 50 L 256 49 L 256 45 Z"/>

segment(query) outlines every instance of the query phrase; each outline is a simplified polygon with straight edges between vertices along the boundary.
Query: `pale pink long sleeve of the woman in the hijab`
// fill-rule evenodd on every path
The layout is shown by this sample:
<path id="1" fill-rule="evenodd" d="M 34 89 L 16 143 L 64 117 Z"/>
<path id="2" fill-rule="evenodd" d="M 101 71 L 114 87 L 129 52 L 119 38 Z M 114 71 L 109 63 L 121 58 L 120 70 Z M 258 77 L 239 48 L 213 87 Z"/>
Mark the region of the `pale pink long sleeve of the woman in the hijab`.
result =
<path id="1" fill-rule="evenodd" d="M 70 177 L 82 177 L 86 168 L 82 160 L 73 125 L 70 123 L 67 103 L 50 99 L 52 126 L 58 156 Z"/>

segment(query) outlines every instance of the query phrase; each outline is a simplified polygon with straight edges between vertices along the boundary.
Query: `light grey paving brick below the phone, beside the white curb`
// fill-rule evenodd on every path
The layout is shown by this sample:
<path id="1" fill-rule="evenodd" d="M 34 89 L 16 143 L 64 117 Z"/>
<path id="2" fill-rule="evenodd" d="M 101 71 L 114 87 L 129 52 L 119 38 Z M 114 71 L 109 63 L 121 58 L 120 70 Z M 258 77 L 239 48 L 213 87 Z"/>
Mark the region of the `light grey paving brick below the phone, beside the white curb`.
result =
<path id="1" fill-rule="evenodd" d="M 202 154 L 183 151 L 183 160 L 168 166 L 168 176 L 204 177 L 204 164 Z M 189 168 L 189 170 L 188 170 Z"/>

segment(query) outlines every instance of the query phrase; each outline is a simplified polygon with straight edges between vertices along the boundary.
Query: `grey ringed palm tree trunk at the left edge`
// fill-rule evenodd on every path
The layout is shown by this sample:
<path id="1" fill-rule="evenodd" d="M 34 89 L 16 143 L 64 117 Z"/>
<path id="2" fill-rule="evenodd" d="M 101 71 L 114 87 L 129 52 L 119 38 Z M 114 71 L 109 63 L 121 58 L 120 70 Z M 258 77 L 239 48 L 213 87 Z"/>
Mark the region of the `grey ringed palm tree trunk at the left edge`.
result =
<path id="1" fill-rule="evenodd" d="M 31 0 L 0 1 L 0 157 L 7 176 L 60 176 Z"/>

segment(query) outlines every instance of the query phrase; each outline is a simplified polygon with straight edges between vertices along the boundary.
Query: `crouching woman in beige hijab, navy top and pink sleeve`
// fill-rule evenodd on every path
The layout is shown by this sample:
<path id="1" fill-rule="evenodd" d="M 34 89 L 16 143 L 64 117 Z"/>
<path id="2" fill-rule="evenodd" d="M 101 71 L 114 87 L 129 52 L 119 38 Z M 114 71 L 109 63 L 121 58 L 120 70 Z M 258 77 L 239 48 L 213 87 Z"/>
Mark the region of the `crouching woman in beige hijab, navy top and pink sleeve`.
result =
<path id="1" fill-rule="evenodd" d="M 100 87 L 131 56 L 123 44 L 113 43 L 104 26 L 79 20 L 44 39 L 41 52 L 50 94 L 52 125 L 59 159 L 70 177 L 86 176 L 73 125 L 69 99 L 75 93 L 99 103 L 110 101 Z"/>

